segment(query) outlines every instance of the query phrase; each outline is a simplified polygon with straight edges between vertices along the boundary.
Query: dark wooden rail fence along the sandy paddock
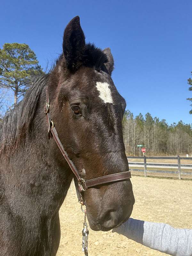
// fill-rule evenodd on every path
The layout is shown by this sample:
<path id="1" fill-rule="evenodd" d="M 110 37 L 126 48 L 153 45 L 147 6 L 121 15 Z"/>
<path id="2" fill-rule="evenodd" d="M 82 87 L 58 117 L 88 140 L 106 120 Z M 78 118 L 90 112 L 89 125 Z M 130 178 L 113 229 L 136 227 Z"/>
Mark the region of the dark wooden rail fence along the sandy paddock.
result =
<path id="1" fill-rule="evenodd" d="M 135 163 L 131 163 L 131 164 L 136 164 L 136 165 L 143 165 L 144 166 L 144 175 L 145 177 L 147 177 L 147 172 L 158 172 L 158 173 L 174 173 L 174 174 L 178 174 L 178 178 L 179 180 L 181 180 L 181 174 L 184 175 L 192 175 L 192 172 L 182 172 L 181 171 L 181 167 L 191 167 L 192 169 L 192 164 L 181 164 L 180 160 L 192 160 L 192 157 L 167 157 L 167 156 L 163 156 L 163 157 L 158 157 L 158 156 L 127 156 L 127 158 L 131 158 L 131 159 L 143 159 L 143 163 L 141 162 L 135 162 Z M 147 159 L 177 159 L 177 164 L 157 164 L 157 163 L 147 163 Z M 147 170 L 147 165 L 156 165 L 156 166 L 172 166 L 172 167 L 176 167 L 177 171 L 161 171 L 161 170 Z M 165 168 L 166 169 L 166 168 Z M 133 171 L 138 171 L 138 172 L 143 172 L 143 170 L 140 169 L 132 169 Z"/>

